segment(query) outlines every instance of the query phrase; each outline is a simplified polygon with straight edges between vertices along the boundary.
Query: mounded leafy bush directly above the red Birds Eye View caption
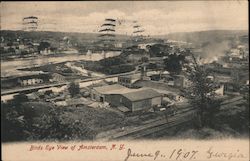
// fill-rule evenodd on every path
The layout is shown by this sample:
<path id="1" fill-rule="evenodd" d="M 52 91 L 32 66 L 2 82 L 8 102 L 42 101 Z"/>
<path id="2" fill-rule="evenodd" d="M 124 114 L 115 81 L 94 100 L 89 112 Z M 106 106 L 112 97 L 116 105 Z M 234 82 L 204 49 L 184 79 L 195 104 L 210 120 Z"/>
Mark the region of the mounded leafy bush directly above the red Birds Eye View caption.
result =
<path id="1" fill-rule="evenodd" d="M 47 115 L 39 118 L 33 125 L 31 140 L 91 140 L 95 133 L 82 120 L 69 119 L 63 115 L 64 110 L 51 108 Z"/>

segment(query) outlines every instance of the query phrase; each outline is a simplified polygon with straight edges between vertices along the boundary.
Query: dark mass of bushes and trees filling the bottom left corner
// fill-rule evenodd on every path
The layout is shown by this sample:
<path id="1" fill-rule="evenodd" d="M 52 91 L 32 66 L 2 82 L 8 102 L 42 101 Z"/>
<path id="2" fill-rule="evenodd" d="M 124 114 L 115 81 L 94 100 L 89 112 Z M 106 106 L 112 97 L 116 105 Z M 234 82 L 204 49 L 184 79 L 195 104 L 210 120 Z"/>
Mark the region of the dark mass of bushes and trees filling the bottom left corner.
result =
<path id="1" fill-rule="evenodd" d="M 64 110 L 48 108 L 39 113 L 42 107 L 27 108 L 22 104 L 13 108 L 10 104 L 2 104 L 2 140 L 70 140 L 90 139 L 94 135 L 86 126 L 82 127 L 77 120 L 70 120 L 64 116 Z M 36 114 L 34 114 L 34 112 Z"/>

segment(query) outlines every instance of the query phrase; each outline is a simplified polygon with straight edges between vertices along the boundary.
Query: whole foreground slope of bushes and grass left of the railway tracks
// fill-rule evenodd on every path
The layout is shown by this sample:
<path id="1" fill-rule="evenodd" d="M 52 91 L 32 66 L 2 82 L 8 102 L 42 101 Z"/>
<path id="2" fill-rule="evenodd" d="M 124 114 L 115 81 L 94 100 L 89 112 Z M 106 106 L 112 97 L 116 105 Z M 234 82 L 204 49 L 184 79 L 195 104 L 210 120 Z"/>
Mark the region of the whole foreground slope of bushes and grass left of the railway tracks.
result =
<path id="1" fill-rule="evenodd" d="M 1 103 L 3 142 L 92 140 L 98 132 L 131 122 L 106 109 L 55 108 L 47 102 L 29 102 L 23 98 L 25 95 L 18 95 Z"/>

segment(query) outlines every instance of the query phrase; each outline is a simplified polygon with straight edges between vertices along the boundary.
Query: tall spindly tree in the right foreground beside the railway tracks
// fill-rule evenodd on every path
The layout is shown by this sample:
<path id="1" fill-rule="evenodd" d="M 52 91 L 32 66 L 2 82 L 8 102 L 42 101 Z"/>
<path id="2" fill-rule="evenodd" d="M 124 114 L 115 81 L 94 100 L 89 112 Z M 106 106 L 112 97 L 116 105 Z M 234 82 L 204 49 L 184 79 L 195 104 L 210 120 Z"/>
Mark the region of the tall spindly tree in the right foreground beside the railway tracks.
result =
<path id="1" fill-rule="evenodd" d="M 194 55 L 190 53 L 193 65 L 187 68 L 192 86 L 187 90 L 191 104 L 197 109 L 199 128 L 213 126 L 214 115 L 219 110 L 219 102 L 215 100 L 215 83 L 207 78 L 209 73 L 201 67 Z"/>

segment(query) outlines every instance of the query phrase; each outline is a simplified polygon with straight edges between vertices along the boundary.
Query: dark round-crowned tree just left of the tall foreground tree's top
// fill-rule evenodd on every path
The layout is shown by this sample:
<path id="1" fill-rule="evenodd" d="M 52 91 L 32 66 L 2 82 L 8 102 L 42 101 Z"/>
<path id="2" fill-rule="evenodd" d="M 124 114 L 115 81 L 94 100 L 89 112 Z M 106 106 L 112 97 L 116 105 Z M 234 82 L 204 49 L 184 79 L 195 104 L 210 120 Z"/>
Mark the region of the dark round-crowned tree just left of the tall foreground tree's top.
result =
<path id="1" fill-rule="evenodd" d="M 184 61 L 185 56 L 183 54 L 171 54 L 164 59 L 165 69 L 170 72 L 170 74 L 179 74 L 182 70 Z"/>

